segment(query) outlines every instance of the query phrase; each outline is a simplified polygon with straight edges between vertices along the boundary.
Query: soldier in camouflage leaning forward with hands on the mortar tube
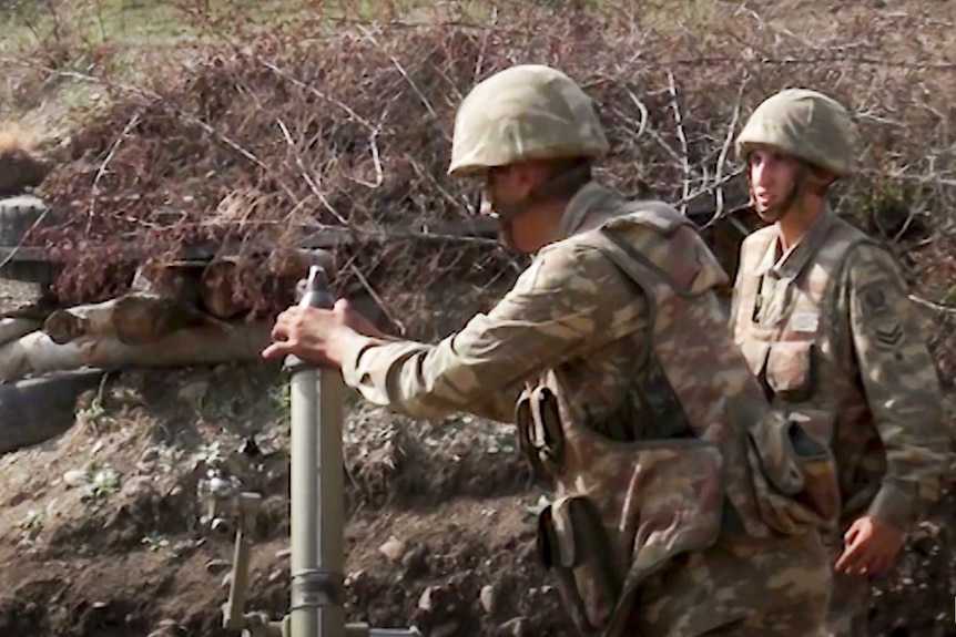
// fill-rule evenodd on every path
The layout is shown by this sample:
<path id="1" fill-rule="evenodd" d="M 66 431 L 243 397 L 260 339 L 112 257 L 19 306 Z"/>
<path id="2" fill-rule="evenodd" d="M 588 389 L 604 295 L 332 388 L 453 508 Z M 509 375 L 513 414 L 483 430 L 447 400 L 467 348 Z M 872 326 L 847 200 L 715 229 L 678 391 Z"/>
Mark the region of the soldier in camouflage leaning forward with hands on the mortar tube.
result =
<path id="1" fill-rule="evenodd" d="M 693 225 L 592 179 L 607 151 L 563 73 L 485 80 L 456 116 L 449 173 L 482 179 L 504 240 L 536 254 L 515 287 L 437 345 L 382 338 L 344 301 L 292 308 L 263 356 L 340 368 L 411 417 L 517 421 L 556 493 L 540 555 L 581 633 L 817 635 L 832 458 L 765 401 Z"/>

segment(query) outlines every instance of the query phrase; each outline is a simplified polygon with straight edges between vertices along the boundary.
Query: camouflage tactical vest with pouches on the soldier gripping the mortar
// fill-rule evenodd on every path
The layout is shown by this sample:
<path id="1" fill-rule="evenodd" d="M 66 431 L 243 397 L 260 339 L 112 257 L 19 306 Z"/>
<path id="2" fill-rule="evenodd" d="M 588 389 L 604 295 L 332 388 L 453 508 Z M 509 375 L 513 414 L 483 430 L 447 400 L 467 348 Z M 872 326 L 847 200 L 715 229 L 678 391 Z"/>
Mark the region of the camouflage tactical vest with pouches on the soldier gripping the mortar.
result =
<path id="1" fill-rule="evenodd" d="M 555 489 L 539 552 L 589 635 L 622 635 L 645 579 L 711 546 L 728 510 L 756 537 L 820 528 L 835 513 L 825 446 L 774 415 L 733 345 L 714 294 L 726 275 L 673 208 L 631 206 L 571 240 L 601 250 L 643 290 L 651 321 L 635 382 L 662 377 L 653 391 L 678 405 L 668 413 L 689 435 L 610 440 L 574 421 L 553 371 L 516 413 L 525 454 Z M 651 366 L 661 373 L 647 373 Z"/>

